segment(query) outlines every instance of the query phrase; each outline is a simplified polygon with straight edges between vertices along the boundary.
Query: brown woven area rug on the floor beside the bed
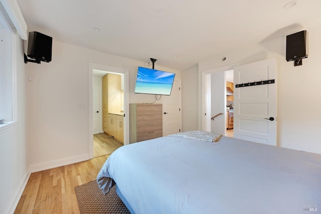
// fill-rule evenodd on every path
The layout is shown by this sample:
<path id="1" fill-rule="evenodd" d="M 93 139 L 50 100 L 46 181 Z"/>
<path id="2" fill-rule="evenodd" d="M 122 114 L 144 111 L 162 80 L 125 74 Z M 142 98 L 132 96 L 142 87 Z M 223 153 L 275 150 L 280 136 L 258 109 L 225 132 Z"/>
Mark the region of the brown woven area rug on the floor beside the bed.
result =
<path id="1" fill-rule="evenodd" d="M 79 211 L 81 214 L 129 213 L 125 204 L 116 193 L 116 186 L 104 195 L 95 180 L 75 187 Z"/>

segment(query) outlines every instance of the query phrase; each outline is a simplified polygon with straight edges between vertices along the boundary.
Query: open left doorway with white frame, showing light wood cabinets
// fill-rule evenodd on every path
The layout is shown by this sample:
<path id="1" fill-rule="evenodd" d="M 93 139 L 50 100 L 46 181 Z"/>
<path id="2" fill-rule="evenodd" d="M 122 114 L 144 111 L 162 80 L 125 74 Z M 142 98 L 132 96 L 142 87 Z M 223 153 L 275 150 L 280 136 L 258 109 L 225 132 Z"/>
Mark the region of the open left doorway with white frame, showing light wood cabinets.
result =
<path id="1" fill-rule="evenodd" d="M 89 158 L 128 144 L 127 94 L 128 70 L 89 63 Z"/>

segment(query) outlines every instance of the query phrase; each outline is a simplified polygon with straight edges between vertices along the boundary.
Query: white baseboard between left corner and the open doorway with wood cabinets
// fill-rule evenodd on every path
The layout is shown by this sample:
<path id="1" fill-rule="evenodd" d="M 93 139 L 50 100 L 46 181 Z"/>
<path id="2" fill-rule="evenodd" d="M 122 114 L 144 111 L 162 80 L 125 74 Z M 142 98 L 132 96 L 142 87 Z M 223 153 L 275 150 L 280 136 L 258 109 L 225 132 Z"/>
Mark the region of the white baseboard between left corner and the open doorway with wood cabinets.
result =
<path id="1" fill-rule="evenodd" d="M 52 169 L 60 166 L 65 166 L 68 164 L 78 163 L 81 161 L 89 160 L 89 154 L 77 155 L 68 158 L 62 158 L 54 161 L 43 162 L 39 164 L 34 164 L 30 166 L 30 172 L 39 172 L 42 170 Z"/>

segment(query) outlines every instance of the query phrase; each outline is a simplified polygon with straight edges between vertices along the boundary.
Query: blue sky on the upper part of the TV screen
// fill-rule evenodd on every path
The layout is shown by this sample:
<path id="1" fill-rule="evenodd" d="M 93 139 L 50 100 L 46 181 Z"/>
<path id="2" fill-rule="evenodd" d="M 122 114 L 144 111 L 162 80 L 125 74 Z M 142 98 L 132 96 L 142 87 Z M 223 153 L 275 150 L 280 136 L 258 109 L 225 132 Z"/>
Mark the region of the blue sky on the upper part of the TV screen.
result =
<path id="1" fill-rule="evenodd" d="M 149 68 L 138 67 L 137 81 L 138 82 L 153 82 L 172 84 L 174 81 L 175 73 L 159 71 Z"/>

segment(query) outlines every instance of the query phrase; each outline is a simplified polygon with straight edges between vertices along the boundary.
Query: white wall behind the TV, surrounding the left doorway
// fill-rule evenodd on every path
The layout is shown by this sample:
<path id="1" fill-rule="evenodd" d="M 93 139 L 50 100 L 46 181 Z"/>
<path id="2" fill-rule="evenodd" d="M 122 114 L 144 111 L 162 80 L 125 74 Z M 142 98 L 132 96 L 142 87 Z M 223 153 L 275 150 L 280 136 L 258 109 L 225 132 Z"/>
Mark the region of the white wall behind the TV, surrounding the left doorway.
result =
<path id="1" fill-rule="evenodd" d="M 45 32 L 44 32 L 45 33 Z M 148 58 L 149 56 L 146 56 Z M 39 171 L 88 159 L 88 63 L 129 70 L 130 103 L 152 102 L 154 95 L 135 94 L 135 61 L 53 40 L 52 61 L 28 63 L 28 165 Z M 155 65 L 155 69 L 181 72 Z M 159 101 L 158 101 L 159 102 Z M 84 109 L 79 109 L 79 105 Z"/>

